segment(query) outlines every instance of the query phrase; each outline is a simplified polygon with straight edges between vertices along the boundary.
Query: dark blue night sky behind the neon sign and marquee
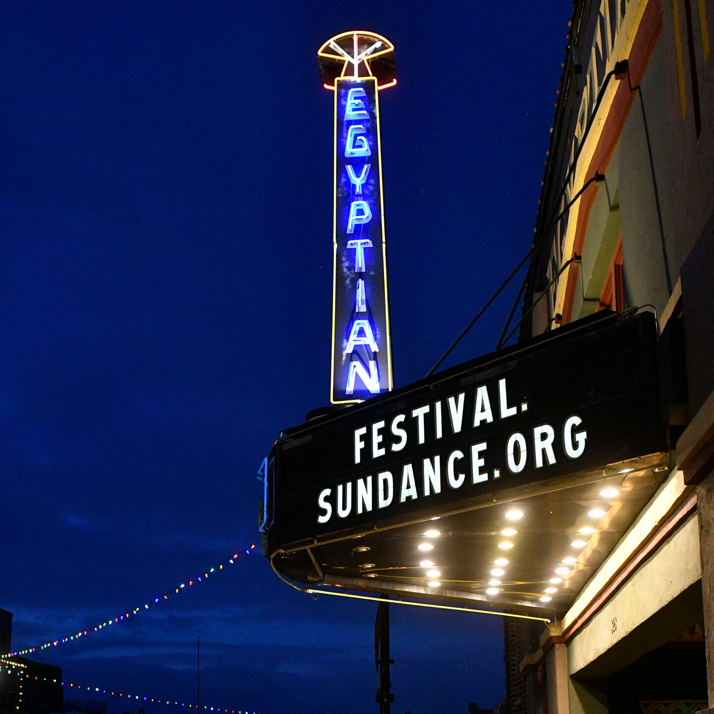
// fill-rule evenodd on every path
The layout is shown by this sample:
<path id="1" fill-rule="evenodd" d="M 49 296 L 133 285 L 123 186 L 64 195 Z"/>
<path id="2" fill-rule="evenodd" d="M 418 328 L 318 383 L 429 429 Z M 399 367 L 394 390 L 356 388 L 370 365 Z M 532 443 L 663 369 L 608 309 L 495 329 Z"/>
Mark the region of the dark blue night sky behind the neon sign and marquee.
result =
<path id="1" fill-rule="evenodd" d="M 261 459 L 328 402 L 332 95 L 318 46 L 349 29 L 396 46 L 381 114 L 402 386 L 531 245 L 570 11 L 4 6 L 0 607 L 15 613 L 16 648 L 256 540 Z M 493 349 L 509 298 L 448 363 Z M 303 597 L 256 553 L 37 659 L 67 681 L 188 701 L 201 635 L 203 703 L 356 714 L 376 711 L 374 611 Z M 393 711 L 501 699 L 500 618 L 393 608 L 392 624 Z M 175 711 L 148 713 L 160 710 Z"/>

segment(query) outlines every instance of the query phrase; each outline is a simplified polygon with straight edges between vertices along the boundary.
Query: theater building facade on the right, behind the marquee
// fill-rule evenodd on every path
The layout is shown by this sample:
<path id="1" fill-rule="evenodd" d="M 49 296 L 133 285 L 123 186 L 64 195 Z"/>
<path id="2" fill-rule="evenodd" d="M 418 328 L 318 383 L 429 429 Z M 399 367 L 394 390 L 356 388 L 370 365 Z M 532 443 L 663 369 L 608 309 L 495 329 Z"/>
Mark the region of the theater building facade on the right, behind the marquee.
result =
<path id="1" fill-rule="evenodd" d="M 670 451 L 570 607 L 506 626 L 528 713 L 714 707 L 713 18 L 710 0 L 574 4 L 520 337 L 652 311 Z"/>

